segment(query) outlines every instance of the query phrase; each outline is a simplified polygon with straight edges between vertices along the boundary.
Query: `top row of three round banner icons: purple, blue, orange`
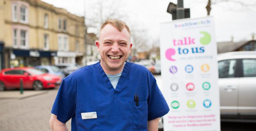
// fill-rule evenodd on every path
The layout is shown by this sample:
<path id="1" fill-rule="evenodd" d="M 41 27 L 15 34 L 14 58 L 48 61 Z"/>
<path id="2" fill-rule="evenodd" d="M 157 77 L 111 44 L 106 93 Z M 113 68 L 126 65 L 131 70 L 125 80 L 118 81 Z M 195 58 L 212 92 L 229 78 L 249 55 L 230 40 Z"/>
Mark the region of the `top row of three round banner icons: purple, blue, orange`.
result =
<path id="1" fill-rule="evenodd" d="M 193 70 L 194 70 L 194 68 L 193 68 L 193 66 L 191 66 L 191 65 L 187 65 L 187 66 L 185 67 L 185 71 L 186 71 L 187 73 L 192 73 Z M 202 64 L 202 65 L 201 65 L 201 71 L 202 71 L 202 72 L 208 72 L 209 70 L 210 70 L 210 66 L 209 66 L 208 64 Z M 175 74 L 175 73 L 177 73 L 178 68 L 177 68 L 176 66 L 171 66 L 171 67 L 169 68 L 169 71 L 170 71 L 170 73 Z"/>

